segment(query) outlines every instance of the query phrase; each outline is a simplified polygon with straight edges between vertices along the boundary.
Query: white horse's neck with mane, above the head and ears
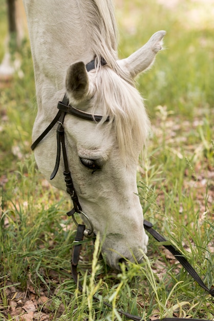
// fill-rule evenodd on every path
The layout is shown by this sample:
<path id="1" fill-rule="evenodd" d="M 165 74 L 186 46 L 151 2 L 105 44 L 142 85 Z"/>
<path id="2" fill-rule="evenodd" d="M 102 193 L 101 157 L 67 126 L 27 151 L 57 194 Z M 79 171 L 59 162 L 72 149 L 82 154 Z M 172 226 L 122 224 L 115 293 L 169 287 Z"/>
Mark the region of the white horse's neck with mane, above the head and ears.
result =
<path id="1" fill-rule="evenodd" d="M 102 56 L 114 67 L 117 31 L 112 0 L 24 0 L 31 41 L 38 109 L 65 91 L 68 67 Z M 57 99 L 57 98 L 56 98 Z M 60 97 L 58 97 L 60 99 Z"/>

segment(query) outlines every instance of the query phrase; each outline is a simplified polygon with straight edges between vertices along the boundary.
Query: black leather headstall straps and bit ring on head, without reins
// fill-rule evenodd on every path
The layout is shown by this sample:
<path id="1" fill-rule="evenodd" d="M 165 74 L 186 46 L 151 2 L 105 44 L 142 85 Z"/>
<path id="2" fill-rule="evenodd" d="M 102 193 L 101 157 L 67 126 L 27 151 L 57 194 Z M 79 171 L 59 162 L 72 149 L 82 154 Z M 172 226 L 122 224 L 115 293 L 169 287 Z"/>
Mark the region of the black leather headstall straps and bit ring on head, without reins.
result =
<path id="1" fill-rule="evenodd" d="M 100 58 L 100 65 L 104 66 L 106 65 L 106 61 L 103 58 Z M 85 65 L 85 68 L 87 71 L 91 71 L 96 68 L 96 59 Z M 65 96 L 62 99 L 62 102 L 58 102 L 57 108 L 59 109 L 58 113 L 56 114 L 55 118 L 51 122 L 51 124 L 42 132 L 42 134 L 36 139 L 36 141 L 32 144 L 31 149 L 34 150 L 36 146 L 41 142 L 41 140 L 49 133 L 49 131 L 53 128 L 53 126 L 58 123 L 57 126 L 57 153 L 56 153 L 56 162 L 55 162 L 55 167 L 54 170 L 50 176 L 50 179 L 53 179 L 59 169 L 59 163 L 60 163 L 60 155 L 61 155 L 61 150 L 62 150 L 62 155 L 63 155 L 63 163 L 65 170 L 63 172 L 63 175 L 65 176 L 65 183 L 66 183 L 66 190 L 67 193 L 71 196 L 72 202 L 73 202 L 73 209 L 67 213 L 68 216 L 72 216 L 74 223 L 78 226 L 78 223 L 74 217 L 74 213 L 79 213 L 81 214 L 85 220 L 89 223 L 90 229 L 85 229 L 84 231 L 84 236 L 87 237 L 92 237 L 93 236 L 93 231 L 94 227 L 93 224 L 87 214 L 85 214 L 82 211 L 81 205 L 79 204 L 78 196 L 76 194 L 73 180 L 71 177 L 71 172 L 69 170 L 69 164 L 68 164 L 68 157 L 67 157 L 67 152 L 66 152 L 66 145 L 65 145 L 65 131 L 64 131 L 64 119 L 66 114 L 70 114 L 73 116 L 76 116 L 78 118 L 84 119 L 86 121 L 92 121 L 92 122 L 100 122 L 102 120 L 102 115 L 93 115 L 87 112 L 84 112 L 82 110 L 76 109 L 69 105 L 69 99 L 68 97 Z M 109 116 L 105 119 L 105 122 L 109 122 Z"/>

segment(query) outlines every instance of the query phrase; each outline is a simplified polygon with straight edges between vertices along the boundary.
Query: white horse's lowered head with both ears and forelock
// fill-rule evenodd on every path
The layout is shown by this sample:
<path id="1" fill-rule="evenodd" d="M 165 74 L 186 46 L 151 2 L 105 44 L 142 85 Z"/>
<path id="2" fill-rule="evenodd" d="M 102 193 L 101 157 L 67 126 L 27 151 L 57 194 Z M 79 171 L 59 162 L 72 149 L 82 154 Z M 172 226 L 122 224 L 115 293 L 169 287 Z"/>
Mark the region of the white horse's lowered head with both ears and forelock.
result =
<path id="1" fill-rule="evenodd" d="M 122 260 L 141 262 L 142 251 L 146 252 L 148 237 L 136 172 L 149 121 L 133 80 L 152 64 L 164 35 L 164 31 L 155 33 L 141 49 L 117 61 L 117 70 L 102 66 L 97 57 L 97 67 L 89 72 L 81 61 L 67 71 L 70 105 L 103 116 L 97 123 L 68 115 L 64 127 L 79 203 L 95 234 L 101 235 L 106 262 L 115 269 Z M 107 117 L 109 122 L 105 122 Z"/>

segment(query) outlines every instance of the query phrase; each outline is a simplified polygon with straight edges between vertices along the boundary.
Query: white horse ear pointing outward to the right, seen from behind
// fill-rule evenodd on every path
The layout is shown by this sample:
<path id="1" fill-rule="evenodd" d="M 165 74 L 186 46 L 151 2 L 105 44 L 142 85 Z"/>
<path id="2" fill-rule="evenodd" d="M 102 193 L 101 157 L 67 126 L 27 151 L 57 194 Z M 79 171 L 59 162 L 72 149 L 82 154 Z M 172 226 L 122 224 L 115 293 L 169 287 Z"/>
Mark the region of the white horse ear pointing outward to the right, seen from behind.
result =
<path id="1" fill-rule="evenodd" d="M 166 31 L 161 30 L 152 35 L 149 41 L 131 56 L 122 59 L 118 65 L 124 72 L 128 72 L 132 78 L 147 69 L 155 60 L 156 53 L 162 49 L 163 37 Z"/>

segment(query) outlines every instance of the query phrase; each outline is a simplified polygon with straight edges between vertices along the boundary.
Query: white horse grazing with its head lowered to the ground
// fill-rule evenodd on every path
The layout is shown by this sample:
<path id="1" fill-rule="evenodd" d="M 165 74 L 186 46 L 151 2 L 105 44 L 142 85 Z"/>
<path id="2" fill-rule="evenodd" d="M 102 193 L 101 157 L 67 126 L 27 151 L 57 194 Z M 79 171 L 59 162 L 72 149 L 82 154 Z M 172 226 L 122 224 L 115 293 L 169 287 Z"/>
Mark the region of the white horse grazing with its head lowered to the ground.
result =
<path id="1" fill-rule="evenodd" d="M 99 123 L 69 114 L 65 117 L 74 187 L 82 211 L 104 239 L 106 262 L 115 269 L 121 259 L 141 262 L 148 237 L 136 171 L 149 121 L 134 78 L 154 61 L 165 31 L 158 31 L 141 49 L 118 60 L 112 0 L 24 0 L 24 5 L 38 104 L 33 141 L 52 121 L 65 92 L 74 108 L 103 115 Z M 94 58 L 96 67 L 87 72 L 85 64 Z M 105 122 L 107 117 L 109 122 Z M 36 147 L 35 158 L 49 179 L 56 158 L 54 129 Z M 51 183 L 65 190 L 63 170 L 61 160 Z"/>

